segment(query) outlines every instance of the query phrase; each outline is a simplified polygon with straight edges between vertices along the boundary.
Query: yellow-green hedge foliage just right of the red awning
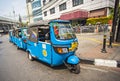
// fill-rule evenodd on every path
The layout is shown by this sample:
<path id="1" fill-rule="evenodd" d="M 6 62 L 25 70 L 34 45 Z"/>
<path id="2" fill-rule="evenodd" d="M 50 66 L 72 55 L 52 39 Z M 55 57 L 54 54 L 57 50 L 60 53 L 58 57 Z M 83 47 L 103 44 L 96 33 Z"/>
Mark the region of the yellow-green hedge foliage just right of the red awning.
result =
<path id="1" fill-rule="evenodd" d="M 97 23 L 107 24 L 110 20 L 110 17 L 100 17 L 100 18 L 89 18 L 87 19 L 87 24 L 95 25 Z"/>

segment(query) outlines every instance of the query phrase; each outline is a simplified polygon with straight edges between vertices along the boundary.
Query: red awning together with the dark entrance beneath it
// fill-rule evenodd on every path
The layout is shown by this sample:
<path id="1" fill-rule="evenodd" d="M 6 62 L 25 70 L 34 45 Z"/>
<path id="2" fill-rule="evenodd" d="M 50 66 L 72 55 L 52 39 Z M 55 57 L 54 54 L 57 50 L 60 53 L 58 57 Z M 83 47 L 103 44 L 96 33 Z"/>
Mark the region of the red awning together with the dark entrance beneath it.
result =
<path id="1" fill-rule="evenodd" d="M 70 20 L 73 26 L 84 25 L 88 18 L 88 12 L 85 10 L 74 10 L 67 13 L 63 13 L 60 16 L 62 20 Z"/>

